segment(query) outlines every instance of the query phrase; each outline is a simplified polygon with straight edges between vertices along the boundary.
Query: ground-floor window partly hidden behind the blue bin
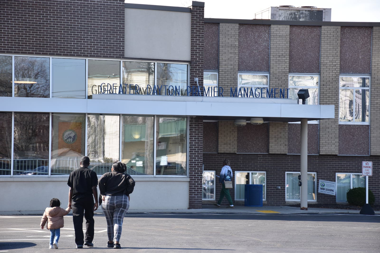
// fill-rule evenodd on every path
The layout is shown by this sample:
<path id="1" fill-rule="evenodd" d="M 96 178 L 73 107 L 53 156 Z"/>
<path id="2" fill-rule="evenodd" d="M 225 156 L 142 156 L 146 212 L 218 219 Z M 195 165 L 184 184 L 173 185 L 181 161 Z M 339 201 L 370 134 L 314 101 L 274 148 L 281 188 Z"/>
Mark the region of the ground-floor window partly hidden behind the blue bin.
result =
<path id="1" fill-rule="evenodd" d="M 263 200 L 266 200 L 266 172 L 265 171 L 236 171 L 235 172 L 235 200 L 244 200 L 245 184 L 262 184 Z"/>

